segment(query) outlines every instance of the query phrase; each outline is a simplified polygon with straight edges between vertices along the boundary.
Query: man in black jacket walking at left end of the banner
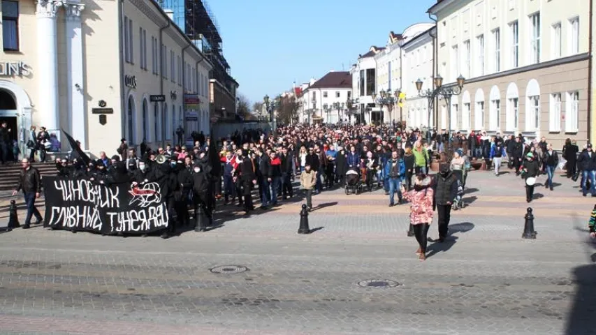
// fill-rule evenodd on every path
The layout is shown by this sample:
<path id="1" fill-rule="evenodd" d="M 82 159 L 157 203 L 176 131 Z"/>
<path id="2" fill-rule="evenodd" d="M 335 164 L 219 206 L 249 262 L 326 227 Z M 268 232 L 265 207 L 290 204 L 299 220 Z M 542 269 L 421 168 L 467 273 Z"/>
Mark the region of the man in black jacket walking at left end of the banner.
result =
<path id="1" fill-rule="evenodd" d="M 31 228 L 31 216 L 35 216 L 37 219 L 36 225 L 41 223 L 42 217 L 37 207 L 35 207 L 35 200 L 41 196 L 41 177 L 39 171 L 32 167 L 29 163 L 29 159 L 23 158 L 21 161 L 23 170 L 19 175 L 19 184 L 15 191 L 13 191 L 13 197 L 23 191 L 25 203 L 27 204 L 27 216 L 25 217 L 25 223 L 23 229 Z"/>

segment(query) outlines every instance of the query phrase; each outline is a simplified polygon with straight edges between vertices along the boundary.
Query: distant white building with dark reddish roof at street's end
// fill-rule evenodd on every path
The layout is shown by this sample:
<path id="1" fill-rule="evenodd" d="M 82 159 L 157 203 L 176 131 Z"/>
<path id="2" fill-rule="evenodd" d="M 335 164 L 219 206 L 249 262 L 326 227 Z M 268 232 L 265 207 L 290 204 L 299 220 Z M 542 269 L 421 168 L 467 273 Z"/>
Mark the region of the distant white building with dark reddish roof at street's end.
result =
<path id="1" fill-rule="evenodd" d="M 302 122 L 337 124 L 349 121 L 347 101 L 351 98 L 352 78 L 348 71 L 331 71 L 319 80 L 301 87 Z"/>

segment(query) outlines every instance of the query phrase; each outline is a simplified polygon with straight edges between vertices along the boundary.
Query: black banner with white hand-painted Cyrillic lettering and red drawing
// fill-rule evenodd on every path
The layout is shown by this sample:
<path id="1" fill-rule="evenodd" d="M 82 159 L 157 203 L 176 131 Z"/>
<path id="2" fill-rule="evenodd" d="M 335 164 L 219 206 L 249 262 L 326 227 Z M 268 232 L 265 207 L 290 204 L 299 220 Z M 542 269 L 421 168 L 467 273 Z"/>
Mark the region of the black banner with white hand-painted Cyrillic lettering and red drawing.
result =
<path id="1" fill-rule="evenodd" d="M 45 223 L 52 228 L 147 234 L 168 227 L 157 183 L 103 185 L 87 179 L 43 177 Z"/>

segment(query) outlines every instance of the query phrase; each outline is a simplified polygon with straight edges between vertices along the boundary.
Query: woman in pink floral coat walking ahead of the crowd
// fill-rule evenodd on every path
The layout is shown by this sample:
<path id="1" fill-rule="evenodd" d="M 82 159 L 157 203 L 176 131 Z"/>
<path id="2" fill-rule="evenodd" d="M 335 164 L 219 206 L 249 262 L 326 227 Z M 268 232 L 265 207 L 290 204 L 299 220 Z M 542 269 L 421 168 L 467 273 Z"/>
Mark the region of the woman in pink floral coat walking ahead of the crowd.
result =
<path id="1" fill-rule="evenodd" d="M 425 174 L 418 174 L 414 182 L 414 190 L 406 192 L 402 185 L 403 198 L 410 202 L 410 223 L 414 225 L 414 236 L 419 248 L 416 254 L 419 260 L 426 260 L 427 234 L 430 223 L 433 222 L 433 195 L 431 179 Z"/>

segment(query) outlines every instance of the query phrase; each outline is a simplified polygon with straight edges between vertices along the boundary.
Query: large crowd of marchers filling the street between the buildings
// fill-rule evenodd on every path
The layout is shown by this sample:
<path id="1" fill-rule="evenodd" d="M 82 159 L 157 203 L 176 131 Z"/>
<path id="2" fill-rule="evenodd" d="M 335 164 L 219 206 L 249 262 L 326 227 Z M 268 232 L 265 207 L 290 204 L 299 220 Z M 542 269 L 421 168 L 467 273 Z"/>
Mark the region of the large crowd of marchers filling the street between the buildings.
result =
<path id="1" fill-rule="evenodd" d="M 102 151 L 96 161 L 87 163 L 73 151 L 70 157 L 57 160 L 58 174 L 87 177 L 100 184 L 157 182 L 171 223 L 163 238 L 172 236 L 180 225 L 194 225 L 197 231 L 208 229 L 196 212 L 203 211 L 212 225 L 216 204 L 236 205 L 249 214 L 255 210 L 253 193 L 258 194 L 263 211 L 291 200 L 296 196 L 293 184 L 297 178 L 308 209 L 313 208 L 312 195 L 326 190 L 339 187 L 349 193 L 355 188 L 358 193 L 379 188 L 388 195 L 389 207 L 409 203 L 409 234 L 419 241 L 421 260 L 426 259 L 433 212 L 437 211 L 439 241 L 444 241 L 451 210 L 462 207 L 467 172 L 473 163 L 484 161 L 486 170 L 493 170 L 496 176 L 500 176 L 503 163 L 509 165 L 525 179 L 528 202 L 533 198 L 536 177 L 546 174 L 544 186 L 552 191 L 554 171 L 564 163 L 567 177 L 582 177 L 583 195 L 596 196 L 592 147 L 586 145 L 578 156 L 579 149 L 571 140 L 559 157 L 544 137 L 530 141 L 523 135 L 503 138 L 485 132 L 449 136 L 442 131 L 395 126 L 288 126 L 278 128 L 275 134 L 236 132 L 217 143 L 203 134 L 195 135 L 192 147 L 179 143 L 156 150 L 143 144 L 138 149 L 129 147 L 122 139 L 117 154 L 108 157 Z M 27 158 L 23 164 L 31 169 Z M 431 167 L 438 173 L 430 175 Z M 29 206 L 36 198 L 30 194 L 39 189 L 31 186 L 35 177 L 27 169 L 15 191 L 24 190 Z M 189 206 L 195 211 L 194 223 Z M 29 227 L 31 217 L 37 215 L 32 205 L 25 225 Z"/>

